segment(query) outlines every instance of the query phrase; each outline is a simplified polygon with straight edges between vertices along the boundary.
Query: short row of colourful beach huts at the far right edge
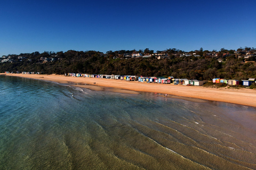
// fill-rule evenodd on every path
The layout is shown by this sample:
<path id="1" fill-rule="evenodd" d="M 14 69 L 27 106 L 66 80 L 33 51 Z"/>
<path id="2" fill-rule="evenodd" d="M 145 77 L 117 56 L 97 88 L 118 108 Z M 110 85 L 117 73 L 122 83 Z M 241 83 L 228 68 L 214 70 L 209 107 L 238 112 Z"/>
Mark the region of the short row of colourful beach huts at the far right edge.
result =
<path id="1" fill-rule="evenodd" d="M 252 83 L 256 82 L 256 79 L 248 79 L 248 80 L 239 81 L 239 80 L 226 80 L 226 79 L 215 78 L 215 79 L 212 79 L 212 82 L 213 83 L 226 83 L 230 86 L 241 84 L 245 87 L 249 87 L 252 85 Z"/>

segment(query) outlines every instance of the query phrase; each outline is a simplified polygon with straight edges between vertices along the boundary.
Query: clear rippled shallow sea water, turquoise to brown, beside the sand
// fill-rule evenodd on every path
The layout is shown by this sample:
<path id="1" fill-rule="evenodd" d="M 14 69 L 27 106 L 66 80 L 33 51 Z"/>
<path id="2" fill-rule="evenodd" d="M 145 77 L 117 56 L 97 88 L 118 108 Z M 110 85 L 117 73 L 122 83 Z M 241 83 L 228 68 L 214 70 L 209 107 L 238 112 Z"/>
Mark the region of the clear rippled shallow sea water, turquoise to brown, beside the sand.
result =
<path id="1" fill-rule="evenodd" d="M 256 109 L 0 76 L 0 169 L 256 169 Z"/>

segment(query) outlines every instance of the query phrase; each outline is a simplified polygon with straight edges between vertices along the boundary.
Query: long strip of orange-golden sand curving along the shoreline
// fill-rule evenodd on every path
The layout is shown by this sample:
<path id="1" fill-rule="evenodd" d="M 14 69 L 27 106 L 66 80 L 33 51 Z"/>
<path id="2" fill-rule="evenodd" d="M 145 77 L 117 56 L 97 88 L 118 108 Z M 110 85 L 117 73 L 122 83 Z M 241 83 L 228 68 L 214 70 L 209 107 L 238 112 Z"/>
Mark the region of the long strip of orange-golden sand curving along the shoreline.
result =
<path id="1" fill-rule="evenodd" d="M 169 97 L 202 102 L 204 99 L 211 101 L 222 101 L 245 106 L 256 107 L 256 90 L 252 89 L 228 89 L 228 88 L 205 88 L 196 86 L 181 86 L 174 84 L 143 83 L 124 80 L 100 79 L 100 78 L 77 78 L 65 75 L 45 74 L 0 74 L 31 78 L 38 80 L 68 83 L 73 86 L 88 88 L 97 91 L 115 91 L 128 94 L 139 94 L 139 92 L 155 92 L 168 94 Z M 94 82 L 96 83 L 94 85 Z"/>

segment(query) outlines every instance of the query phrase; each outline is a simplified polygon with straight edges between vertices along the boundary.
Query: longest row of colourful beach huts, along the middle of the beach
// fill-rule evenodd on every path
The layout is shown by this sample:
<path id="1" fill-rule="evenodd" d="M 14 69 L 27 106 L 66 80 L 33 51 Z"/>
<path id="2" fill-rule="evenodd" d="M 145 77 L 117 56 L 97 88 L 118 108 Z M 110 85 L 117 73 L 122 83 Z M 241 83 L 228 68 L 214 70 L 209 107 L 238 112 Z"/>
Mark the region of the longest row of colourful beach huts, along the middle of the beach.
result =
<path id="1" fill-rule="evenodd" d="M 116 80 L 126 80 L 126 81 L 138 81 L 147 83 L 164 83 L 164 84 L 180 84 L 180 85 L 194 85 L 203 86 L 203 81 L 198 80 L 188 80 L 188 79 L 175 79 L 170 76 L 165 77 L 139 77 L 136 75 L 106 75 L 106 74 L 81 74 L 81 73 L 68 73 L 71 77 L 87 77 L 87 78 L 101 78 L 101 79 L 116 79 Z"/>

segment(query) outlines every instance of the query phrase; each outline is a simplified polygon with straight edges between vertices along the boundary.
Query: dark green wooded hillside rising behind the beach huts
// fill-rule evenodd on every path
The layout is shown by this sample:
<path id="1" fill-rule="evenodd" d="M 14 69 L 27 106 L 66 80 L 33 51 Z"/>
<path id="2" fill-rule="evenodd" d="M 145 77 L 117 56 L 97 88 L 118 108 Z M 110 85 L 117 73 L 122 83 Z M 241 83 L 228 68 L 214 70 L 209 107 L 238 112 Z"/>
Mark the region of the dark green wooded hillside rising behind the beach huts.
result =
<path id="1" fill-rule="evenodd" d="M 148 53 L 151 51 L 149 50 Z M 200 51 L 198 51 L 200 52 Z M 132 51 L 121 50 L 119 54 L 107 52 L 106 55 L 96 51 L 78 52 L 44 52 L 20 55 L 9 55 L 12 62 L 0 63 L 0 72 L 41 72 L 44 74 L 89 73 L 89 74 L 118 74 L 118 75 L 142 75 L 147 77 L 173 76 L 174 78 L 187 78 L 197 80 L 224 79 L 249 79 L 256 78 L 256 65 L 253 62 L 245 63 L 243 58 L 230 55 L 219 62 L 217 57 L 189 56 L 180 57 L 180 52 L 170 52 L 167 58 L 158 60 L 149 58 L 122 58 Z M 151 52 L 152 53 L 152 52 Z M 51 58 L 46 61 L 45 58 Z M 248 61 L 255 61 L 255 56 Z"/>

